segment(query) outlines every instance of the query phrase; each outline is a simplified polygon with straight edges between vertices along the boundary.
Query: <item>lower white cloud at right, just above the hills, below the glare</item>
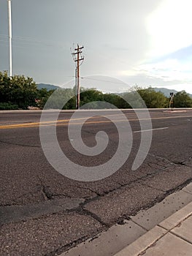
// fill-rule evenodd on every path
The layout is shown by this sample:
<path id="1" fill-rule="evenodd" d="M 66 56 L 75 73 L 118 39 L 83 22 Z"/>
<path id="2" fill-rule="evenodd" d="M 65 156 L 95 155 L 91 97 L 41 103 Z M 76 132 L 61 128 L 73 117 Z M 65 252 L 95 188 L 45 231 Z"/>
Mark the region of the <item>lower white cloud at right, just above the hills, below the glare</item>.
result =
<path id="1" fill-rule="evenodd" d="M 131 86 L 168 87 L 192 94 L 191 61 L 165 59 L 150 64 L 141 64 L 130 70 L 119 72 L 119 77 Z"/>

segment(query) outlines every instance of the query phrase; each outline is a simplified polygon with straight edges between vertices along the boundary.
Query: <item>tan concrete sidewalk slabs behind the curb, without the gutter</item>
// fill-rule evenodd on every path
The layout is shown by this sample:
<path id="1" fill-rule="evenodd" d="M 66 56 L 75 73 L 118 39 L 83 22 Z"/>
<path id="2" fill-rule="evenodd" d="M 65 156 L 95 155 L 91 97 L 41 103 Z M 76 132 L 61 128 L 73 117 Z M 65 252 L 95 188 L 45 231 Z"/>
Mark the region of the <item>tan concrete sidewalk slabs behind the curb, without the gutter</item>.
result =
<path id="1" fill-rule="evenodd" d="M 126 246 L 115 256 L 191 256 L 192 202 Z"/>

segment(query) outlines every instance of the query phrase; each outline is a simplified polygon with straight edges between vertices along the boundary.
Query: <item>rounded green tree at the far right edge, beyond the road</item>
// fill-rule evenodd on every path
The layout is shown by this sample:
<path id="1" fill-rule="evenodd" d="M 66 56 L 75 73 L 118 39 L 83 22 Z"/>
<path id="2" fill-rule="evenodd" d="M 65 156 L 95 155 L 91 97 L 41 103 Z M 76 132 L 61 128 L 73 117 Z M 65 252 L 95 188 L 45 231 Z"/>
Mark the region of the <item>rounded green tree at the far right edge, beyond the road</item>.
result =
<path id="1" fill-rule="evenodd" d="M 192 108 L 192 98 L 186 91 L 178 91 L 173 98 L 174 108 Z"/>

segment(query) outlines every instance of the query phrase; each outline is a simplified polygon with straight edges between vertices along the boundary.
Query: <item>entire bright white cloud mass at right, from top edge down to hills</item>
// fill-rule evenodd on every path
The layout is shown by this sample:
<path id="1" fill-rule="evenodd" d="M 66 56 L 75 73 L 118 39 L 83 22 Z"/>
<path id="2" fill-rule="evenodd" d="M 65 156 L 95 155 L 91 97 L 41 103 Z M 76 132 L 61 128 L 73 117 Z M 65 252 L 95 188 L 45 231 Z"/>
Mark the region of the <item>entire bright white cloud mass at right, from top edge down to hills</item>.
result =
<path id="1" fill-rule="evenodd" d="M 150 43 L 146 58 L 118 75 L 141 86 L 175 86 L 191 92 L 192 56 L 191 48 L 187 49 L 192 45 L 191 10 L 191 0 L 161 1 L 146 18 Z"/>

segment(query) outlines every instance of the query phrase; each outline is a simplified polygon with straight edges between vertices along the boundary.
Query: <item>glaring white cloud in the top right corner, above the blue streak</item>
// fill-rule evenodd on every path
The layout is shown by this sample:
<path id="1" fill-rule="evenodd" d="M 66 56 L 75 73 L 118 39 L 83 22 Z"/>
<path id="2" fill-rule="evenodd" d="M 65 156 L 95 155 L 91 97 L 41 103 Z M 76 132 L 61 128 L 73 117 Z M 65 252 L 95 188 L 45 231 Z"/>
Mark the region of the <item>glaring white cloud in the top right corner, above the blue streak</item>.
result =
<path id="1" fill-rule="evenodd" d="M 192 44 L 191 10 L 191 0 L 164 0 L 148 16 L 150 56 L 164 56 Z"/>

